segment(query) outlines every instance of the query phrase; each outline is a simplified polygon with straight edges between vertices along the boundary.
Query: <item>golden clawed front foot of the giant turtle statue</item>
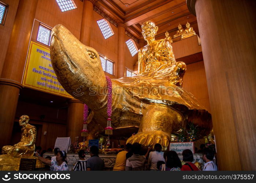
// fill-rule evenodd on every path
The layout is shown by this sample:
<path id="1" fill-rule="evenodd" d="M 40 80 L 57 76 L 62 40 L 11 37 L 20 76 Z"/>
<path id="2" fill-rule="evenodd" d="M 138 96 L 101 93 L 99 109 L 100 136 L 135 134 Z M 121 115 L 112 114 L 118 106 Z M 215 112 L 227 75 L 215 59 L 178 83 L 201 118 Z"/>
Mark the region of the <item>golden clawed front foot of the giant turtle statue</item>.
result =
<path id="1" fill-rule="evenodd" d="M 145 131 L 138 132 L 137 134 L 131 136 L 127 139 L 126 143 L 138 142 L 142 146 L 154 146 L 156 143 L 162 145 L 162 147 L 168 147 L 170 141 L 170 134 L 163 131 Z"/>

